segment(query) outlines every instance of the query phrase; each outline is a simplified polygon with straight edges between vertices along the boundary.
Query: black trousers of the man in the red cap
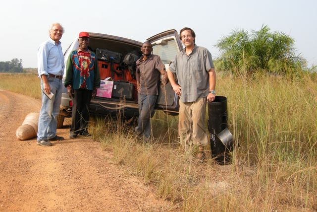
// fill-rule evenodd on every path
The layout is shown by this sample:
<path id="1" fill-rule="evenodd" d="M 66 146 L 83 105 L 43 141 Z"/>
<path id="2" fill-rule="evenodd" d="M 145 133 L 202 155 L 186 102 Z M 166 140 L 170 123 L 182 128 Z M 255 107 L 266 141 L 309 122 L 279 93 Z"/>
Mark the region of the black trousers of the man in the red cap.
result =
<path id="1" fill-rule="evenodd" d="M 87 131 L 89 121 L 89 105 L 92 92 L 92 90 L 86 89 L 74 90 L 70 133 L 79 134 Z"/>

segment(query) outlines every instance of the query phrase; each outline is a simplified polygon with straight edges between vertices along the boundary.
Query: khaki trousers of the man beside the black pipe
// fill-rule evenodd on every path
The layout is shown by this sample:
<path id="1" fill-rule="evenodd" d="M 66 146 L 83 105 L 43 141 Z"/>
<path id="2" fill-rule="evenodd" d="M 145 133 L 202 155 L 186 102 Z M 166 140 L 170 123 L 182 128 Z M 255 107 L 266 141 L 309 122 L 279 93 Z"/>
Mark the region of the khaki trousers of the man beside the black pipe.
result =
<path id="1" fill-rule="evenodd" d="M 186 148 L 194 145 L 207 145 L 208 136 L 205 128 L 206 97 L 195 102 L 179 101 L 178 133 L 181 144 Z"/>

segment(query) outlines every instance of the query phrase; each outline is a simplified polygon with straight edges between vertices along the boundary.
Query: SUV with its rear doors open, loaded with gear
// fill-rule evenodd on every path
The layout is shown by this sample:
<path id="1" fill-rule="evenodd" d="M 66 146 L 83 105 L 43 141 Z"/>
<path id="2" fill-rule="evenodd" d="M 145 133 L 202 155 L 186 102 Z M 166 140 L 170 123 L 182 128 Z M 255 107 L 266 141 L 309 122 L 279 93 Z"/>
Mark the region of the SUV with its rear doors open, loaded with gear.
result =
<path id="1" fill-rule="evenodd" d="M 96 53 L 101 80 L 111 77 L 113 80 L 112 95 L 109 98 L 96 96 L 91 100 L 90 113 L 95 115 L 116 115 L 122 111 L 126 117 L 139 115 L 137 88 L 135 79 L 135 60 L 140 57 L 142 42 L 113 35 L 89 33 L 89 49 Z M 168 69 L 169 63 L 176 54 L 183 50 L 176 30 L 168 30 L 148 38 L 153 45 L 153 54 L 159 55 Z M 64 58 L 65 67 L 69 54 L 79 47 L 76 38 L 67 48 Z M 132 61 L 131 61 L 132 60 Z M 130 63 L 129 63 L 130 61 Z M 66 72 L 66 71 L 65 71 Z M 65 77 L 65 74 L 64 74 Z M 63 82 L 64 82 L 63 77 Z M 122 95 L 114 95 L 114 89 Z M 178 96 L 170 83 L 159 88 L 156 109 L 166 111 L 169 115 L 178 115 Z M 72 101 L 63 87 L 60 113 L 57 117 L 57 128 L 61 128 L 65 117 L 71 117 Z"/>

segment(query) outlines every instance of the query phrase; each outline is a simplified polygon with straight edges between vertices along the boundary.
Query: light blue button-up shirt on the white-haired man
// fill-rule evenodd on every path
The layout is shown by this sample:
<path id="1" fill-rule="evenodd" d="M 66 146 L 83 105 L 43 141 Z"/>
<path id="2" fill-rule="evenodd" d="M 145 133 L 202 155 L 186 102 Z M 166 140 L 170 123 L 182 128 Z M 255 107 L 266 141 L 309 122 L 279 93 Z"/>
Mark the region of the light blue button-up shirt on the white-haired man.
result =
<path id="1" fill-rule="evenodd" d="M 49 73 L 61 76 L 64 74 L 64 67 L 64 56 L 60 42 L 56 44 L 51 38 L 43 42 L 38 49 L 39 77 Z"/>

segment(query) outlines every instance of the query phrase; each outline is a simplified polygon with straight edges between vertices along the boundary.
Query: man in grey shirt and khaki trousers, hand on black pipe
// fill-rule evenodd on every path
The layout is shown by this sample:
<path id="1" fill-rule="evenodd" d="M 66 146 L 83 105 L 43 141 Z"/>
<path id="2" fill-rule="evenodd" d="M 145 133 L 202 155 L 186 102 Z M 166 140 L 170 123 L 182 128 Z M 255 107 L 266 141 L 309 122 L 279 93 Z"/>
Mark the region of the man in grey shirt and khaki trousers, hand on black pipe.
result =
<path id="1" fill-rule="evenodd" d="M 197 158 L 204 159 L 204 146 L 208 144 L 206 99 L 213 101 L 215 98 L 216 75 L 211 53 L 195 44 L 195 32 L 185 27 L 179 34 L 185 49 L 178 53 L 167 71 L 173 90 L 180 96 L 178 132 L 182 145 L 187 147 L 193 141 L 199 150 Z"/>

